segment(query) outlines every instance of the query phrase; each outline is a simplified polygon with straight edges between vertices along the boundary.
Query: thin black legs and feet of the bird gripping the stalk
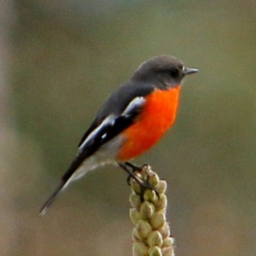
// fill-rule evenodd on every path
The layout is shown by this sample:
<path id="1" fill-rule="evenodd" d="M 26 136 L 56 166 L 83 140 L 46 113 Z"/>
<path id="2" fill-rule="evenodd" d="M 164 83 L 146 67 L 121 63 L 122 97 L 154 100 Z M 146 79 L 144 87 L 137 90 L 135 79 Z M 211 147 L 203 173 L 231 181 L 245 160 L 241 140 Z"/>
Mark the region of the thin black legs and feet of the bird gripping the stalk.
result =
<path id="1" fill-rule="evenodd" d="M 134 179 L 136 180 L 136 182 L 141 186 L 142 189 L 151 189 L 151 190 L 154 190 L 155 194 L 159 197 L 159 193 L 158 193 L 157 189 L 155 189 L 152 184 L 148 183 L 148 181 L 146 181 L 146 182 L 141 181 L 141 180 L 137 177 L 137 175 L 134 173 L 134 171 L 142 171 L 142 167 L 136 166 L 135 168 L 133 168 L 133 167 L 134 167 L 133 164 L 128 163 L 128 165 L 127 165 L 127 162 L 125 162 L 125 163 L 118 163 L 118 165 L 119 165 L 125 172 L 128 173 L 129 176 L 128 176 L 128 178 L 127 178 L 127 183 L 128 183 L 129 185 L 131 185 L 130 179 L 131 179 L 131 177 L 132 177 L 132 178 L 134 178 Z M 130 170 L 129 167 L 131 167 L 132 170 Z M 138 169 L 138 170 L 136 170 L 136 169 Z"/>

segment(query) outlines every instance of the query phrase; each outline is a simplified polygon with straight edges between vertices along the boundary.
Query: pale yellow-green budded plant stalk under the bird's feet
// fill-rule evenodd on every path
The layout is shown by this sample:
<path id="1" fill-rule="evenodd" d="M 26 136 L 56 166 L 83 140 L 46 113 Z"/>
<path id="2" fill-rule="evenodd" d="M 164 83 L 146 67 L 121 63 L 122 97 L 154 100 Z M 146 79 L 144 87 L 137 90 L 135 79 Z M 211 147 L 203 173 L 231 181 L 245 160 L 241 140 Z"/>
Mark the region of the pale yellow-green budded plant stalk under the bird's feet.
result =
<path id="1" fill-rule="evenodd" d="M 159 197 L 152 189 L 143 189 L 131 180 L 130 217 L 135 227 L 132 230 L 133 256 L 174 256 L 170 226 L 166 222 L 166 181 L 160 180 L 148 165 L 142 172 L 136 172 L 143 182 L 157 189 Z"/>

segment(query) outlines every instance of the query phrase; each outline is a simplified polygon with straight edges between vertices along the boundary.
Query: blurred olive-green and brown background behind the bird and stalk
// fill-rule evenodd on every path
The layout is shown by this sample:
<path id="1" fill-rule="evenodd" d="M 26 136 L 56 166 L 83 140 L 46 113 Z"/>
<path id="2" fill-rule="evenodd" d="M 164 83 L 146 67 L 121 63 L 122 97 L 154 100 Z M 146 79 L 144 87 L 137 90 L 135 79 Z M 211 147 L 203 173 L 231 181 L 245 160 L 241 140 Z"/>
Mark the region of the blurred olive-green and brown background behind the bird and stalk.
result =
<path id="1" fill-rule="evenodd" d="M 137 164 L 168 183 L 176 253 L 256 252 L 255 1 L 0 1 L 0 254 L 131 255 L 126 175 L 105 166 L 38 211 L 110 92 L 155 55 L 197 73 Z"/>

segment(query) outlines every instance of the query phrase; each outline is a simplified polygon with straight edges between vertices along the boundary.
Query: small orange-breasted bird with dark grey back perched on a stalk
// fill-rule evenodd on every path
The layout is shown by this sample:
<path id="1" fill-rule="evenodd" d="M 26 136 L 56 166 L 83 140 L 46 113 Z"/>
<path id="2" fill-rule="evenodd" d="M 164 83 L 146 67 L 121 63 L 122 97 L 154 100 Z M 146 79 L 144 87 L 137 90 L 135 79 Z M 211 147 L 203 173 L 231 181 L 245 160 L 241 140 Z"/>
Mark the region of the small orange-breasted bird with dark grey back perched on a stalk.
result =
<path id="1" fill-rule="evenodd" d="M 183 78 L 197 72 L 198 69 L 184 67 L 182 61 L 170 55 L 143 62 L 102 105 L 79 143 L 77 156 L 40 214 L 44 215 L 69 183 L 105 164 L 117 164 L 147 186 L 129 171 L 129 167 L 137 168 L 129 160 L 154 146 L 172 126 Z"/>

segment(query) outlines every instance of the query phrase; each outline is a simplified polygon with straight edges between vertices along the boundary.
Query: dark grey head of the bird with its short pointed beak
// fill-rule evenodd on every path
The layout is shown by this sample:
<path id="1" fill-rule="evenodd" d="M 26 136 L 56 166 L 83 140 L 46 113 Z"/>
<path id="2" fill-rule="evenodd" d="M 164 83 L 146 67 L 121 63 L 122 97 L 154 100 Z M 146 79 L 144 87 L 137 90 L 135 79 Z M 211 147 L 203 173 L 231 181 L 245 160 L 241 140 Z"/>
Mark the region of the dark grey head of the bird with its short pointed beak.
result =
<path id="1" fill-rule="evenodd" d="M 184 67 L 183 62 L 173 56 L 161 55 L 143 62 L 131 79 L 168 88 L 181 84 L 185 75 L 197 72 L 198 69 Z"/>

